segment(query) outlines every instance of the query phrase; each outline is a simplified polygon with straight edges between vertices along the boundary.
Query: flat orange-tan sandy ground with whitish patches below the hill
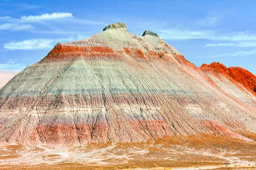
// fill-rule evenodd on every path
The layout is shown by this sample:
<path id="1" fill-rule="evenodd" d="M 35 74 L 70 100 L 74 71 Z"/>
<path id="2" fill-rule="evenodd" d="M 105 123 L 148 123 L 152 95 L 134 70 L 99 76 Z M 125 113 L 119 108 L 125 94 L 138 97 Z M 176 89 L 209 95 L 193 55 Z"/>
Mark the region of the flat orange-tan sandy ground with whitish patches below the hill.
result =
<path id="1" fill-rule="evenodd" d="M 256 145 L 206 134 L 66 147 L 2 144 L 0 169 L 256 169 Z"/>

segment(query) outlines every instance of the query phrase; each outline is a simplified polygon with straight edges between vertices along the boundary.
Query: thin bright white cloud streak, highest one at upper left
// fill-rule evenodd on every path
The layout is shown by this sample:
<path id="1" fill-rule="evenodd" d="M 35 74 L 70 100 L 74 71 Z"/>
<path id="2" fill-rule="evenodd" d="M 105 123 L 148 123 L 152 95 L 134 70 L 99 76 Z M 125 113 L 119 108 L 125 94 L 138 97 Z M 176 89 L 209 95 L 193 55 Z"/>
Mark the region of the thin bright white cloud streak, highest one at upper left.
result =
<path id="1" fill-rule="evenodd" d="M 24 21 L 41 21 L 49 19 L 60 19 L 65 17 L 73 17 L 72 13 L 44 13 L 42 15 L 29 15 L 27 17 L 23 16 Z"/>

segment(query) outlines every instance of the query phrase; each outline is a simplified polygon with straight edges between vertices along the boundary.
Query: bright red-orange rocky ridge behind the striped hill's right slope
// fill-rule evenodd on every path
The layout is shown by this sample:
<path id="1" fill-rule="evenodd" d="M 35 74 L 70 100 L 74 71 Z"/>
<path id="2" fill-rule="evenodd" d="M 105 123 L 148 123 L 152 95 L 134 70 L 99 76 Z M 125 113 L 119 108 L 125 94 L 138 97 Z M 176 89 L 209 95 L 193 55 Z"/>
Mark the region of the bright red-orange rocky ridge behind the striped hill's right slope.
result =
<path id="1" fill-rule="evenodd" d="M 256 96 L 256 76 L 254 76 L 248 70 L 245 70 L 241 67 L 230 67 L 226 68 L 224 64 L 220 62 L 212 62 L 212 64 L 202 64 L 200 67 L 201 70 L 212 70 L 220 74 L 224 74 L 232 80 L 239 82 L 243 85 L 249 92 Z"/>

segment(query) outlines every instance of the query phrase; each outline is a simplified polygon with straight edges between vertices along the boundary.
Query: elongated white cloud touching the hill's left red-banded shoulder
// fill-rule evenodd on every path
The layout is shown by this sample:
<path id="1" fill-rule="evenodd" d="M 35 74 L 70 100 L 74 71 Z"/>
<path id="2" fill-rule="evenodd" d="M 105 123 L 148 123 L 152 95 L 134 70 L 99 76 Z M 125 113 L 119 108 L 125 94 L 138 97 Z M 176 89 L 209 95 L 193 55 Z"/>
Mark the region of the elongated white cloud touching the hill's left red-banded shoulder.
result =
<path id="1" fill-rule="evenodd" d="M 5 43 L 3 47 L 7 50 L 40 50 L 53 48 L 55 44 L 60 41 L 73 41 L 74 38 L 62 38 L 62 39 L 26 39 L 24 41 L 11 41 Z"/>

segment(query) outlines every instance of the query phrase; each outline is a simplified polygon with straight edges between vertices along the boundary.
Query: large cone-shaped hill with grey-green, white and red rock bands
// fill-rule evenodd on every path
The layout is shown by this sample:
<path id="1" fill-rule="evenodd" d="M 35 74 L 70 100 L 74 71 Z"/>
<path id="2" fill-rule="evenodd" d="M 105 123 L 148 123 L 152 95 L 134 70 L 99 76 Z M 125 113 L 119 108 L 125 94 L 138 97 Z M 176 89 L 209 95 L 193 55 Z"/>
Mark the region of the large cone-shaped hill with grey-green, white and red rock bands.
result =
<path id="1" fill-rule="evenodd" d="M 209 70 L 154 33 L 109 25 L 57 44 L 1 89 L 0 140 L 69 145 L 212 133 L 252 142 L 239 134 L 256 131 L 247 76 Z"/>

